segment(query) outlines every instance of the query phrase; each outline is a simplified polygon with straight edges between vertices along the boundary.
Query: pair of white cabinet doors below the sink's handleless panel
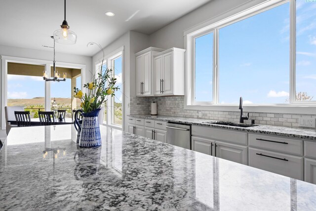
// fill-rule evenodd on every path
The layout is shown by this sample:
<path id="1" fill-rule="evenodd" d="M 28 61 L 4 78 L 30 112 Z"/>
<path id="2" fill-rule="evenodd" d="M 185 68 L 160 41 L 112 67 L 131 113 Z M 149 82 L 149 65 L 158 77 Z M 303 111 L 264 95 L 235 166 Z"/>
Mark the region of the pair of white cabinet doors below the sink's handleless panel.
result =
<path id="1" fill-rule="evenodd" d="M 248 165 L 248 147 L 192 136 L 192 150 Z"/>

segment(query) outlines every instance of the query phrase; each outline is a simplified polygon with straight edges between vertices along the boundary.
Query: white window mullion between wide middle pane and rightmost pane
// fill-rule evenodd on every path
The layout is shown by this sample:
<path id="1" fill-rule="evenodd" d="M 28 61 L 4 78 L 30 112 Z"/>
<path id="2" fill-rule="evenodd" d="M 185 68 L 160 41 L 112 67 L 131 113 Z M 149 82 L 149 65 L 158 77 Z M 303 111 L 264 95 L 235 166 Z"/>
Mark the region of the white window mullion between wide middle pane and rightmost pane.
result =
<path id="1" fill-rule="evenodd" d="M 290 0 L 290 103 L 296 101 L 296 1 Z"/>

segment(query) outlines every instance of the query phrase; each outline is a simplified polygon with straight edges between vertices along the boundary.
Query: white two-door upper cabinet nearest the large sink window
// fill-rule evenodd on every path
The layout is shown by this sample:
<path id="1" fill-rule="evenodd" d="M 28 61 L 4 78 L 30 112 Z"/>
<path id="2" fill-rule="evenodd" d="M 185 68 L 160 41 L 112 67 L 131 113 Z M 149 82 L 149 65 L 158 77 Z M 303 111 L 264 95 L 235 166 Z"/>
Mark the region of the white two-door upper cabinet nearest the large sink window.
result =
<path id="1" fill-rule="evenodd" d="M 154 95 L 184 95 L 185 51 L 174 47 L 154 55 Z"/>

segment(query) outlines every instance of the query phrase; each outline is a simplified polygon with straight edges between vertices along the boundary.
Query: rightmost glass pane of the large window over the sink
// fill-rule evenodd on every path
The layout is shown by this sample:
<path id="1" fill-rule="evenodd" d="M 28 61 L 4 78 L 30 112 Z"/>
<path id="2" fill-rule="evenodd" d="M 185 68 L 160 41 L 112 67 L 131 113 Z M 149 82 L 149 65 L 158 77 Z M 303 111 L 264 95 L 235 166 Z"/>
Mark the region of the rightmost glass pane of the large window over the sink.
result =
<path id="1" fill-rule="evenodd" d="M 316 2 L 296 0 L 296 100 L 316 100 Z"/>

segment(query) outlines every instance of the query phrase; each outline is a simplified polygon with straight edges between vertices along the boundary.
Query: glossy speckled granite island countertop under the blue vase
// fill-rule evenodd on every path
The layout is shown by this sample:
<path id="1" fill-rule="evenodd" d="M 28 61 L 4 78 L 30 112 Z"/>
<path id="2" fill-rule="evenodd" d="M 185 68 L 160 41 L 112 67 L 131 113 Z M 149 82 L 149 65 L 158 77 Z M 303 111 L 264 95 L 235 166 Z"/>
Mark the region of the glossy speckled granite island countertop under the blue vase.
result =
<path id="1" fill-rule="evenodd" d="M 101 127 L 12 128 L 0 152 L 0 210 L 315 210 L 316 185 Z M 46 153 L 47 151 L 47 153 Z"/>

